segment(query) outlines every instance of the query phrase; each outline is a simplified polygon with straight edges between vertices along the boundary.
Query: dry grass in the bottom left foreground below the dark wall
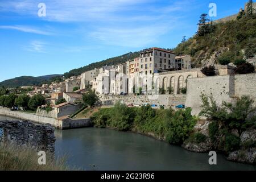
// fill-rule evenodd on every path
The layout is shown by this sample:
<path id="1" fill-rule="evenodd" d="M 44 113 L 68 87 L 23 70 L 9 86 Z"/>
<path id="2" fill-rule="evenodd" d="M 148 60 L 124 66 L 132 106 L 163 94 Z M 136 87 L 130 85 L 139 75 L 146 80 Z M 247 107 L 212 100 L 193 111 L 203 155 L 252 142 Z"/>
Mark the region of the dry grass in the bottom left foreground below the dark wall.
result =
<path id="1" fill-rule="evenodd" d="M 53 160 L 46 154 L 46 165 L 39 165 L 38 152 L 32 147 L 0 144 L 0 171 L 67 171 L 66 156 Z"/>

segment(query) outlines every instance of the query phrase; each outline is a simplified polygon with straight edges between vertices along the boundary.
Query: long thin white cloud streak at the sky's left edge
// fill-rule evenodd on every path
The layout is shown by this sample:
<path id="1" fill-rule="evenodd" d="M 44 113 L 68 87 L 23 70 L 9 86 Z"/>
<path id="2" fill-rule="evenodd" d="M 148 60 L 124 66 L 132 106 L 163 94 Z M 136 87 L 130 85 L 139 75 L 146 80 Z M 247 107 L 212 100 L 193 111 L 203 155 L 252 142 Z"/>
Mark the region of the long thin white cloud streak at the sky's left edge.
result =
<path id="1" fill-rule="evenodd" d="M 52 35 L 51 32 L 47 32 L 47 31 L 42 31 L 42 30 L 38 30 L 36 28 L 33 27 L 26 27 L 26 26 L 0 26 L 1 29 L 11 29 L 11 30 L 18 30 L 18 31 L 22 31 L 22 32 L 29 32 L 32 34 L 40 34 L 40 35 Z"/>

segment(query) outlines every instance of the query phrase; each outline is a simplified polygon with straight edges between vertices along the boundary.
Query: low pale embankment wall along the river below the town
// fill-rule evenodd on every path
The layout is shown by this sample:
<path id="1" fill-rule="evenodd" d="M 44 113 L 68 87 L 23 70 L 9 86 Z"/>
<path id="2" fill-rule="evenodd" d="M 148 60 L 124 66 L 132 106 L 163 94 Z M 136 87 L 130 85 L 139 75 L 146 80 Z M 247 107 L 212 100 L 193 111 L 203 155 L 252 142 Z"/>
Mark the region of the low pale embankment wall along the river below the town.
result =
<path id="1" fill-rule="evenodd" d="M 0 108 L 0 115 L 13 117 L 22 120 L 28 120 L 36 123 L 47 124 L 55 127 L 59 130 L 73 129 L 79 127 L 89 127 L 91 125 L 90 118 L 83 119 L 71 119 L 68 117 L 62 118 L 49 118 L 43 117 L 41 115 L 36 115 L 35 113 L 27 113 L 22 111 L 11 111 L 9 108 Z"/>

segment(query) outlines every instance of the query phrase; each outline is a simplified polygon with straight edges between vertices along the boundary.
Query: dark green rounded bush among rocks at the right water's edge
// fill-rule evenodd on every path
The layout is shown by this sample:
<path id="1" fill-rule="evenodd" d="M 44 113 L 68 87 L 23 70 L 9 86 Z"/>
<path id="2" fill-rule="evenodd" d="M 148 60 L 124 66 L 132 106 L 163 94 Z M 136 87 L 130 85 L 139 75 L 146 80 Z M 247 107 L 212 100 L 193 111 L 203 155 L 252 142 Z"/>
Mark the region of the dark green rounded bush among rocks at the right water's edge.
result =
<path id="1" fill-rule="evenodd" d="M 240 148 L 240 137 L 237 137 L 234 134 L 225 135 L 225 144 L 224 149 L 226 152 L 232 152 Z"/>

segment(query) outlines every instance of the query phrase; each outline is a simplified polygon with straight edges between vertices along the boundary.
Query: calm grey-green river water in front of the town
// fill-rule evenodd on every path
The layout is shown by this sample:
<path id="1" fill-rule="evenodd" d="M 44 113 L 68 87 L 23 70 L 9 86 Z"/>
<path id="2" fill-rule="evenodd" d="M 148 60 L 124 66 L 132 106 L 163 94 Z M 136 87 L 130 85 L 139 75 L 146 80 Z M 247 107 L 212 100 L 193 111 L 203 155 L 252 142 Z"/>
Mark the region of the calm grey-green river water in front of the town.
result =
<path id="1" fill-rule="evenodd" d="M 11 119 L 0 116 L 0 120 Z M 15 120 L 15 119 L 14 119 Z M 55 130 L 56 157 L 86 170 L 256 170 L 256 166 L 229 162 L 217 154 L 210 166 L 208 154 L 196 154 L 144 135 L 110 129 Z"/>

